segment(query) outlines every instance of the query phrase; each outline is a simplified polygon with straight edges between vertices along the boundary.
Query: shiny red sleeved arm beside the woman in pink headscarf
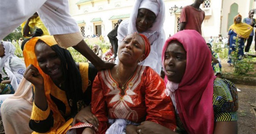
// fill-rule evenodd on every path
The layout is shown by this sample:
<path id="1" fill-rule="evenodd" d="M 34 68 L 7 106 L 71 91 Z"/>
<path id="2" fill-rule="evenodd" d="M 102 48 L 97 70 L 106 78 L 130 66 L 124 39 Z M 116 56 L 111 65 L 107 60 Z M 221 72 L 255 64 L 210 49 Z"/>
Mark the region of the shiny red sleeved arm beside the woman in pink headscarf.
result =
<path id="1" fill-rule="evenodd" d="M 162 78 L 151 68 L 145 75 L 146 121 L 152 121 L 171 130 L 176 128 L 175 111 L 170 97 L 166 96 Z"/>

